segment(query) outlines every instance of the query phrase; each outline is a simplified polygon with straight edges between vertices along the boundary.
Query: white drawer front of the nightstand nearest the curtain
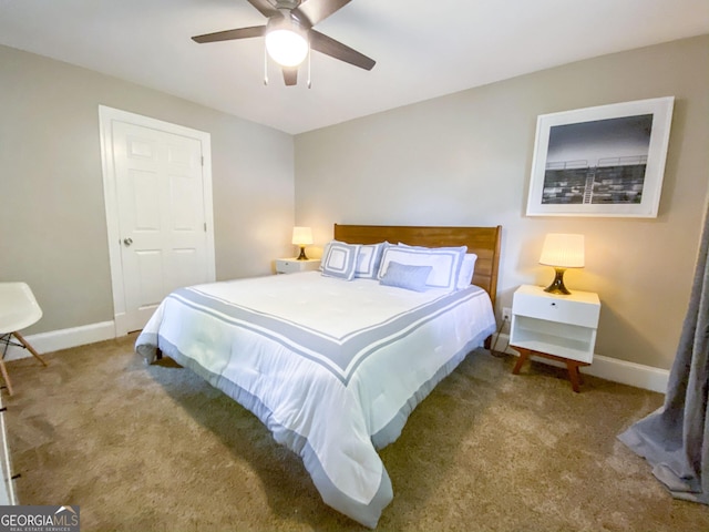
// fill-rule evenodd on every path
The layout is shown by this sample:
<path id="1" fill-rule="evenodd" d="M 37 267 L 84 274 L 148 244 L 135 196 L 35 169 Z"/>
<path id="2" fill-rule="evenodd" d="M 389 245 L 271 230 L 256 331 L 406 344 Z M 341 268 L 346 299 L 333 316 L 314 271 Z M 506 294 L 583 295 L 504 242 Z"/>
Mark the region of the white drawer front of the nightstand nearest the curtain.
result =
<path id="1" fill-rule="evenodd" d="M 597 327 L 600 305 L 564 299 L 563 296 L 541 297 L 538 294 L 515 293 L 514 314 L 559 324 Z"/>

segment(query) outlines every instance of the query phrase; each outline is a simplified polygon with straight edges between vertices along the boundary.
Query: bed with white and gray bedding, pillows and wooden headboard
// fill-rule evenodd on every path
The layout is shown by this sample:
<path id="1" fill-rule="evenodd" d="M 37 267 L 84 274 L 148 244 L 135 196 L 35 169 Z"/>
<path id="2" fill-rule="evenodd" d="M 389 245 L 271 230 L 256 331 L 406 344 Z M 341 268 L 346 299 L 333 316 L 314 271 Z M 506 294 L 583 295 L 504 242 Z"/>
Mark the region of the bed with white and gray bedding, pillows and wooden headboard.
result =
<path id="1" fill-rule="evenodd" d="M 495 330 L 500 242 L 500 226 L 336 224 L 322 272 L 175 290 L 135 349 L 148 362 L 169 356 L 249 409 L 301 457 L 327 504 L 374 528 L 393 497 L 377 450 Z M 453 264 L 459 248 L 455 278 L 440 284 L 439 263 L 407 258 Z"/>

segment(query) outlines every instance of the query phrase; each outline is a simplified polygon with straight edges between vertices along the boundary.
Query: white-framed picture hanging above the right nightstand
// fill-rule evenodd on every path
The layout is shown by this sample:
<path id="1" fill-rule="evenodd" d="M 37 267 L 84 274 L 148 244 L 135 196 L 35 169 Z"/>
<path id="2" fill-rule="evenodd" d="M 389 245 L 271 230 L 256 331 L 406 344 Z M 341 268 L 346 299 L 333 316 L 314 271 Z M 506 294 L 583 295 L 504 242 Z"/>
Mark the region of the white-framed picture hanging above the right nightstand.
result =
<path id="1" fill-rule="evenodd" d="M 675 96 L 537 116 L 527 216 L 657 217 Z"/>

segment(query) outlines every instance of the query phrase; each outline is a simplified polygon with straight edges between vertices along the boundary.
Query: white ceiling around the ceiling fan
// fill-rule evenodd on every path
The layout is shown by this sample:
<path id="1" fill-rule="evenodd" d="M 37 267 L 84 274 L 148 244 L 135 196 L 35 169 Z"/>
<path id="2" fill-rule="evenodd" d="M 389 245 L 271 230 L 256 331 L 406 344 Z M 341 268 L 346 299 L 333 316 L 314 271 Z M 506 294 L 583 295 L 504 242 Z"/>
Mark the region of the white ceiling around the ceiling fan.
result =
<path id="1" fill-rule="evenodd" d="M 316 28 L 377 65 L 368 72 L 314 52 L 311 89 L 306 68 L 297 86 L 285 86 L 273 64 L 264 85 L 261 38 L 209 44 L 189 39 L 265 21 L 246 0 L 0 0 L 0 44 L 296 134 L 709 33 L 709 1 L 352 0 Z"/>

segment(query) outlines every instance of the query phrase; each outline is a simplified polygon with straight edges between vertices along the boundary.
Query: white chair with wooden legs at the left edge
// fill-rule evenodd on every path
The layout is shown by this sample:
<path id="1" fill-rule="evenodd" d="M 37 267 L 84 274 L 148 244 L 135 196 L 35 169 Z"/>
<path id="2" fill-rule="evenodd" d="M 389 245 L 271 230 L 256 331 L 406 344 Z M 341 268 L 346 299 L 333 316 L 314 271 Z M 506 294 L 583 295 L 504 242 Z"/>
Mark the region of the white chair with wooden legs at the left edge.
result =
<path id="1" fill-rule="evenodd" d="M 34 358 L 47 366 L 44 359 L 19 332 L 20 329 L 39 321 L 41 317 L 42 309 L 27 283 L 0 283 L 0 342 L 4 342 L 2 358 L 0 358 L 0 371 L 2 371 L 2 378 L 10 395 L 12 395 L 12 383 L 4 365 L 8 346 L 18 346 L 29 350 Z M 20 344 L 12 341 L 13 336 Z"/>

